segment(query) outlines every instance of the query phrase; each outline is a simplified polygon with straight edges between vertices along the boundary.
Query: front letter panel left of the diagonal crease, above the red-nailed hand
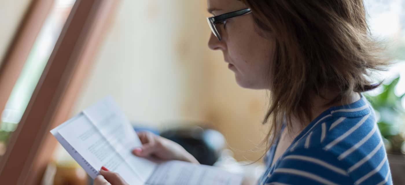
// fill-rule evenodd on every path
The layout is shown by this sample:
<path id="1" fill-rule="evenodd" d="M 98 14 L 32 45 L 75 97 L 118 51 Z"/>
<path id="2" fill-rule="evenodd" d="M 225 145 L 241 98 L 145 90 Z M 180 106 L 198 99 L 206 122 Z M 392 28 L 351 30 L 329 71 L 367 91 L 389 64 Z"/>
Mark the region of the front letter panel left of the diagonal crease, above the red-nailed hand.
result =
<path id="1" fill-rule="evenodd" d="M 86 159 L 92 168 L 100 169 L 101 166 L 105 166 L 119 173 L 130 184 L 144 184 L 145 181 L 136 175 L 86 116 L 79 116 L 74 121 L 64 124 L 58 133 Z"/>

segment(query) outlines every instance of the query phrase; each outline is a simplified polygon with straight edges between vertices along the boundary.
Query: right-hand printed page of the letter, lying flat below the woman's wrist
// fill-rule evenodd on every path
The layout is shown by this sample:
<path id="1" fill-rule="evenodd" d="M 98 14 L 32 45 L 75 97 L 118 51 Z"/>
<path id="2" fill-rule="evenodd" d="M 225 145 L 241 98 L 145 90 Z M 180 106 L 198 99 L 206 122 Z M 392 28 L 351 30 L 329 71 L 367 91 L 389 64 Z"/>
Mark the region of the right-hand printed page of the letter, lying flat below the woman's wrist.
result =
<path id="1" fill-rule="evenodd" d="M 213 166 L 168 161 L 160 164 L 147 185 L 240 185 L 242 176 Z"/>

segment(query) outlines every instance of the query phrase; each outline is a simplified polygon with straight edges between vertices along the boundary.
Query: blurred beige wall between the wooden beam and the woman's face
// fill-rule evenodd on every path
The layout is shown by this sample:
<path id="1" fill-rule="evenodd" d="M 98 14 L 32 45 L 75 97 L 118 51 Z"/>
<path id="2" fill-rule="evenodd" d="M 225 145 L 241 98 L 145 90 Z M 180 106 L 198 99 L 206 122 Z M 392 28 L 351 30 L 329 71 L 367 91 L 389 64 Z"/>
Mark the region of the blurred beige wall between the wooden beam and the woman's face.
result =
<path id="1" fill-rule="evenodd" d="M 263 136 L 264 92 L 237 86 L 222 53 L 209 51 L 206 9 L 205 0 L 122 0 L 72 115 L 112 95 L 139 125 L 212 123 L 237 159 L 257 159 L 248 151 Z"/>

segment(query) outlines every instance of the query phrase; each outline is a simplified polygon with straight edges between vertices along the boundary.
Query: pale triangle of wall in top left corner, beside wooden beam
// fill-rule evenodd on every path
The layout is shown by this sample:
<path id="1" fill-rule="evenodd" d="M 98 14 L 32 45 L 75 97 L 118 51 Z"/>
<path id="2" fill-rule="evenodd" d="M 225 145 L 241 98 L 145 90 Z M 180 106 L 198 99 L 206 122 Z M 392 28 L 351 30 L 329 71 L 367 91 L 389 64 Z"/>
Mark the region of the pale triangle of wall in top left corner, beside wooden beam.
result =
<path id="1" fill-rule="evenodd" d="M 0 65 L 31 0 L 0 1 Z"/>

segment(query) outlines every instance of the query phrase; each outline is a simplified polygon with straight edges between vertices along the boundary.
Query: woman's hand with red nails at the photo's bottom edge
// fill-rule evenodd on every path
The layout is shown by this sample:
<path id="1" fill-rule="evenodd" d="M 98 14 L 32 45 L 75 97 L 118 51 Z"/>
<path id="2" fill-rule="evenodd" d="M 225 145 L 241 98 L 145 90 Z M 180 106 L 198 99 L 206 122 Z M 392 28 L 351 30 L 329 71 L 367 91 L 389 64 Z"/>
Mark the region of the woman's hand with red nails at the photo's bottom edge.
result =
<path id="1" fill-rule="evenodd" d="M 128 185 L 119 174 L 111 172 L 105 167 L 101 168 L 100 174 L 94 179 L 93 185 Z"/>

